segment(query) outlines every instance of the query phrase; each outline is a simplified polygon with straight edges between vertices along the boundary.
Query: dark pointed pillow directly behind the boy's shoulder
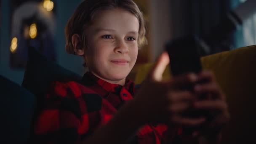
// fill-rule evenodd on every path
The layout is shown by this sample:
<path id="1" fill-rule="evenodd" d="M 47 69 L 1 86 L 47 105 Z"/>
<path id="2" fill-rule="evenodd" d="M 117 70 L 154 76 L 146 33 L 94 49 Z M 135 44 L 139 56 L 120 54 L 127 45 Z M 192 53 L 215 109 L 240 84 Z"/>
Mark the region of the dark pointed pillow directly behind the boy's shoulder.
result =
<path id="1" fill-rule="evenodd" d="M 82 78 L 68 69 L 60 67 L 50 61 L 33 47 L 29 47 L 27 67 L 22 82 L 22 87 L 29 90 L 37 97 L 40 107 L 48 87 L 53 81 L 79 81 Z"/>

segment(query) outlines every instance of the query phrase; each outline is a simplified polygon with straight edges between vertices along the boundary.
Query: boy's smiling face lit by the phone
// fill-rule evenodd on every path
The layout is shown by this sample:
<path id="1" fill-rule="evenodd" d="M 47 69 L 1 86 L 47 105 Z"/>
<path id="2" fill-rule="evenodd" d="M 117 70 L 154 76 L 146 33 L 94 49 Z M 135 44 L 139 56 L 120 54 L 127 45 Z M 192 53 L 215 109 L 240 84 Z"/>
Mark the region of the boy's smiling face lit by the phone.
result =
<path id="1" fill-rule="evenodd" d="M 101 11 L 87 28 L 88 69 L 109 83 L 124 85 L 138 55 L 139 21 L 121 8 Z"/>

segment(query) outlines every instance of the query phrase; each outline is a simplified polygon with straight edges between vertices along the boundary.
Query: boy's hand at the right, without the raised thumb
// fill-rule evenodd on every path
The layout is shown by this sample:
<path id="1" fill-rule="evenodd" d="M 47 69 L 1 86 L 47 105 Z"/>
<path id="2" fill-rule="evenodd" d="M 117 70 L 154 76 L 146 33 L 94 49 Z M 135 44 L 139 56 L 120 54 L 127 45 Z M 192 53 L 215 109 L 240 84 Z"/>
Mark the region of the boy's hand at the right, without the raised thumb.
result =
<path id="1" fill-rule="evenodd" d="M 201 133 L 209 136 L 218 135 L 224 125 L 229 121 L 229 112 L 225 101 L 225 95 L 214 80 L 212 72 L 201 72 L 197 75 L 197 80 L 208 81 L 205 84 L 195 85 L 194 87 L 194 91 L 197 96 L 208 96 L 207 99 L 195 101 L 193 104 L 193 107 L 197 109 L 208 109 L 210 112 L 210 117 L 206 120 Z M 198 134 L 200 134 L 200 132 Z"/>

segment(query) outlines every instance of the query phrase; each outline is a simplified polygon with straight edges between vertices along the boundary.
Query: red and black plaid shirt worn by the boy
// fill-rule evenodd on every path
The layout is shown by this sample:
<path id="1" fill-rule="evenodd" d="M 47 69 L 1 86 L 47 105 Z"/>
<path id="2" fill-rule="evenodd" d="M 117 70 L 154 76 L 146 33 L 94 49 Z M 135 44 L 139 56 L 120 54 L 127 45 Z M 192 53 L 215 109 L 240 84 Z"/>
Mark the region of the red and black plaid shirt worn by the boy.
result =
<path id="1" fill-rule="evenodd" d="M 90 72 L 81 83 L 54 82 L 35 123 L 36 144 L 76 144 L 107 123 L 125 101 L 133 99 L 134 83 L 108 83 Z M 122 134 L 120 132 L 120 134 Z M 179 134 L 166 125 L 145 125 L 131 144 L 173 144 Z"/>

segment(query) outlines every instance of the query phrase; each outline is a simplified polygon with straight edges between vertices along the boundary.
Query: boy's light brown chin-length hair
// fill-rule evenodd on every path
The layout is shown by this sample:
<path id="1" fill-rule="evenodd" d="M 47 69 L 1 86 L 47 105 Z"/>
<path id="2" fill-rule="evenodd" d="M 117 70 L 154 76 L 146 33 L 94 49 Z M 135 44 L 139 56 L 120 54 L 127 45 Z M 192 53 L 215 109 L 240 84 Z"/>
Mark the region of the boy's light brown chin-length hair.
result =
<path id="1" fill-rule="evenodd" d="M 93 16 L 99 11 L 114 8 L 123 8 L 125 11 L 129 11 L 137 17 L 139 20 L 139 48 L 147 44 L 143 14 L 133 0 L 84 0 L 83 3 L 77 7 L 65 27 L 66 51 L 72 54 L 75 53 L 71 40 L 74 34 L 78 34 L 81 37 L 83 48 L 85 48 L 87 45 L 85 35 L 86 27 L 92 23 Z"/>

